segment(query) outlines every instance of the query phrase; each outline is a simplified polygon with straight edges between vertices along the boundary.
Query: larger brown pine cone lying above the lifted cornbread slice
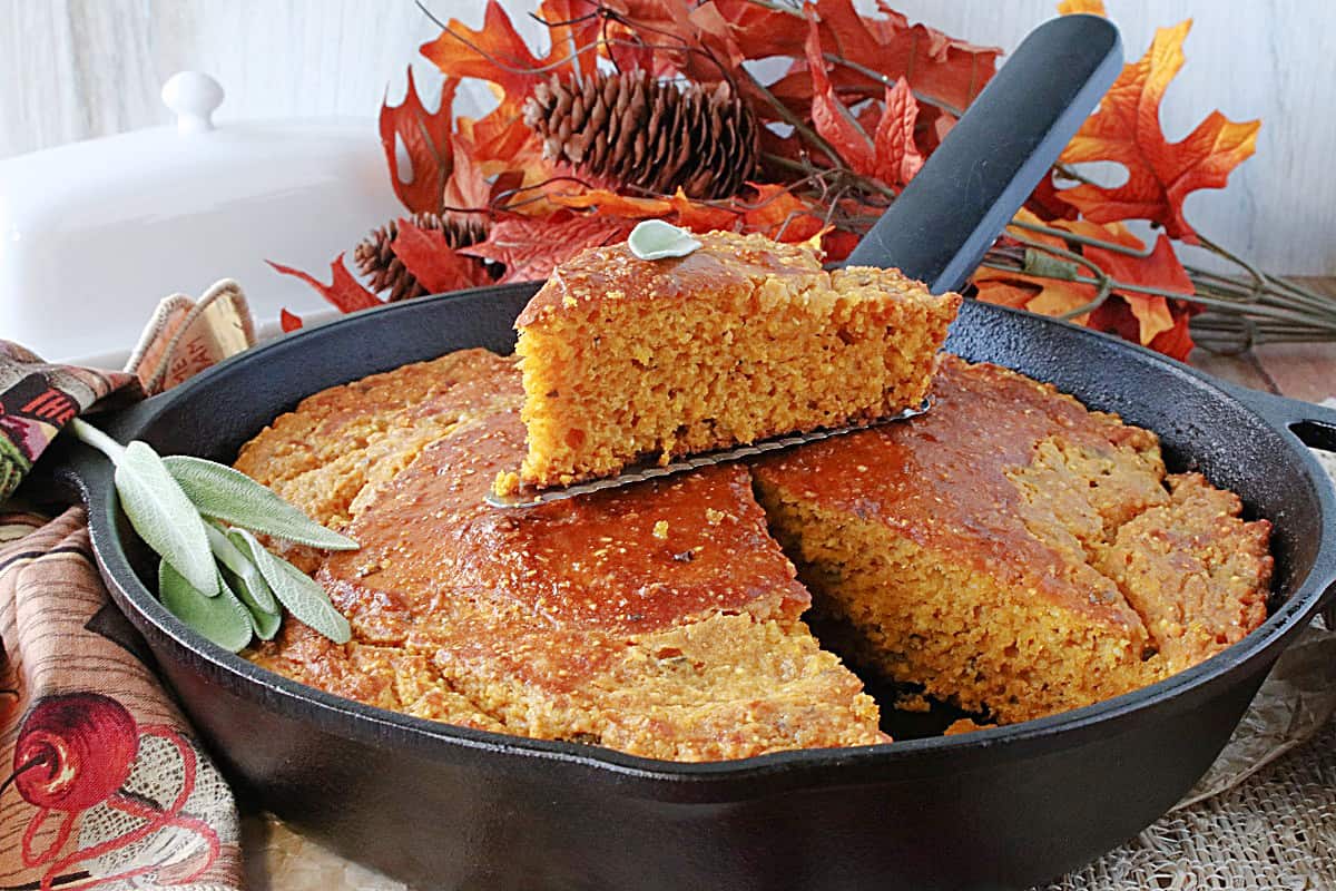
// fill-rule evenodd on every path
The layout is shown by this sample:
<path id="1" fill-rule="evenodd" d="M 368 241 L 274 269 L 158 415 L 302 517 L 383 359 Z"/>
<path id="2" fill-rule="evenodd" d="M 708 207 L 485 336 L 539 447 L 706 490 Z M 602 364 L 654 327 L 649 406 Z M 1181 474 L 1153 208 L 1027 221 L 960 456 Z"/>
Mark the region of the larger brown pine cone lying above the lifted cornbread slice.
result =
<path id="1" fill-rule="evenodd" d="M 553 75 L 525 100 L 524 122 L 545 156 L 619 188 L 728 198 L 756 166 L 756 118 L 723 81 L 679 90 L 644 71 Z"/>

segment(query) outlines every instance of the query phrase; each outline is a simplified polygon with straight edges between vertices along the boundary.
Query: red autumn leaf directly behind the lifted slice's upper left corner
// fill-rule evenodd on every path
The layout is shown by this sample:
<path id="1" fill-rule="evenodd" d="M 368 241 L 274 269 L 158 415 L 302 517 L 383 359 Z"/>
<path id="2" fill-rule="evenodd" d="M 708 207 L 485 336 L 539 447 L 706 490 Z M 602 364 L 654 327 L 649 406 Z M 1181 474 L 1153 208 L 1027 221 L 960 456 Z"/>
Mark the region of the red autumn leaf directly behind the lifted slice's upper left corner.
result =
<path id="1" fill-rule="evenodd" d="M 461 254 L 505 264 L 502 282 L 545 279 L 585 247 L 625 240 L 633 223 L 558 211 L 548 218 L 512 216 L 492 224 L 488 238 Z"/>

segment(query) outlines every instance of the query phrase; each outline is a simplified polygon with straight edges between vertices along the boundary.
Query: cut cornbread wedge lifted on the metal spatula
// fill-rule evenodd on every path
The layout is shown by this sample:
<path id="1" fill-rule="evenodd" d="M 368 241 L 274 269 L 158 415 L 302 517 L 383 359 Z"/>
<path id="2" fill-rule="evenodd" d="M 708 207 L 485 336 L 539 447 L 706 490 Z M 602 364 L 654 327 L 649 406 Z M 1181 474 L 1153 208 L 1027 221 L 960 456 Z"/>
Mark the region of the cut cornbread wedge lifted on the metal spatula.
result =
<path id="1" fill-rule="evenodd" d="M 934 297 L 898 270 L 826 271 L 812 248 L 760 235 L 699 240 L 661 260 L 625 244 L 589 248 L 534 295 L 516 321 L 528 449 L 498 490 L 923 399 L 958 295 Z"/>

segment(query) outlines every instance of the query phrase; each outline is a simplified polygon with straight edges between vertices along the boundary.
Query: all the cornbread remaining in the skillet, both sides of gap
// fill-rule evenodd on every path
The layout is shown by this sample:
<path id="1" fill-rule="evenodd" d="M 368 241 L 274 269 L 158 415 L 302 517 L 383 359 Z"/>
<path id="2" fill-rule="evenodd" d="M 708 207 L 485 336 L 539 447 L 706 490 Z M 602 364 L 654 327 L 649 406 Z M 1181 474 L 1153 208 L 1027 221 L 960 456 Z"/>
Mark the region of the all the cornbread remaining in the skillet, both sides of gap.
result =
<path id="1" fill-rule="evenodd" d="M 525 449 L 512 359 L 469 350 L 317 394 L 238 466 L 362 542 L 305 554 L 354 640 L 287 621 L 253 657 L 421 717 L 717 760 L 887 739 L 831 651 L 1009 723 L 1160 680 L 1264 620 L 1268 524 L 1166 476 L 1153 434 L 954 358 L 935 398 L 751 470 L 506 512 L 482 497 Z"/>

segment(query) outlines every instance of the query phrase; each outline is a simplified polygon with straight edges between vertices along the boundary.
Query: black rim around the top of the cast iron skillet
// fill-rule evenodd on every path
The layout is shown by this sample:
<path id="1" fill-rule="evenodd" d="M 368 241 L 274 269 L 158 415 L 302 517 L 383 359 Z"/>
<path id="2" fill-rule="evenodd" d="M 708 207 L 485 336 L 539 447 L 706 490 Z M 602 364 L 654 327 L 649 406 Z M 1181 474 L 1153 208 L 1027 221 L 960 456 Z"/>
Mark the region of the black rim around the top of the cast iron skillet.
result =
<path id="1" fill-rule="evenodd" d="M 116 413 L 112 425 L 116 427 L 118 434 L 135 435 L 171 411 L 179 402 L 188 399 L 191 393 L 203 382 L 210 382 L 218 375 L 224 375 L 238 365 L 263 361 L 263 357 L 270 351 L 291 350 L 299 343 L 299 338 L 309 333 L 322 331 L 331 326 L 365 325 L 366 319 L 374 314 L 421 309 L 429 302 L 449 302 L 470 297 L 494 295 L 500 290 L 518 293 L 521 289 L 533 289 L 537 285 L 540 283 L 522 282 L 437 294 L 414 301 L 387 303 L 341 315 L 311 327 L 303 327 L 294 333 L 295 337 L 281 337 L 246 350 L 202 371 L 166 394 L 146 399 L 124 411 Z M 693 785 L 720 784 L 759 779 L 775 773 L 806 772 L 814 775 L 812 783 L 815 784 L 820 783 L 819 773 L 831 768 L 839 768 L 843 772 L 850 768 L 890 768 L 914 760 L 935 763 L 938 759 L 959 759 L 971 751 L 991 752 L 1005 749 L 1015 757 L 1038 755 L 1049 751 L 1050 747 L 1065 747 L 1074 737 L 1098 733 L 1108 721 L 1133 712 L 1172 705 L 1189 692 L 1225 683 L 1226 679 L 1242 671 L 1246 665 L 1261 661 L 1264 653 L 1283 647 L 1285 639 L 1307 625 L 1312 616 L 1323 608 L 1323 601 L 1336 593 L 1336 484 L 1327 478 L 1327 474 L 1312 457 L 1308 448 L 1285 423 L 1268 417 L 1263 409 L 1248 401 L 1246 397 L 1229 385 L 1217 382 L 1197 369 L 1173 362 L 1158 353 L 1137 347 L 1117 337 L 1011 307 L 975 301 L 970 303 L 974 307 L 970 310 L 971 313 L 1011 314 L 1022 317 L 1026 323 L 1062 327 L 1065 329 L 1062 337 L 1086 338 L 1094 342 L 1102 338 L 1106 345 L 1112 345 L 1120 353 L 1122 359 L 1149 366 L 1154 374 L 1186 377 L 1193 386 L 1205 390 L 1213 398 L 1222 398 L 1248 415 L 1255 417 L 1285 441 L 1289 452 L 1300 458 L 1300 465 L 1304 469 L 1304 482 L 1308 484 L 1316 496 L 1320 509 L 1321 541 L 1309 572 L 1300 584 L 1295 585 L 1285 602 L 1273 614 L 1268 616 L 1261 627 L 1216 656 L 1162 681 L 1092 705 L 1019 724 L 993 727 L 957 736 L 935 736 L 862 747 L 790 749 L 727 761 L 667 761 L 581 743 L 540 740 L 490 731 L 476 731 L 454 724 L 413 717 L 402 712 L 393 712 L 335 696 L 261 668 L 236 653 L 230 653 L 216 647 L 172 616 L 152 596 L 147 586 L 143 585 L 138 573 L 130 565 L 118 530 L 119 500 L 115 492 L 106 485 L 102 492 L 94 492 L 94 478 L 79 478 L 76 480 L 76 485 L 81 489 L 84 501 L 88 505 L 94 554 L 99 570 L 114 594 L 114 600 L 116 600 L 122 609 L 126 609 L 127 605 L 132 606 L 132 610 L 130 610 L 132 613 L 131 618 L 135 620 L 138 617 L 140 620 L 135 621 L 136 625 L 147 622 L 156 635 L 166 637 L 172 645 L 186 651 L 183 655 L 184 661 L 190 663 L 196 672 L 200 672 L 212 683 L 224 687 L 231 695 L 251 700 L 262 708 L 278 711 L 287 717 L 310 721 L 323 732 L 371 745 L 383 745 L 387 741 L 397 747 L 405 745 L 406 751 L 418 756 L 448 757 L 452 751 L 460 748 L 474 752 L 560 761 L 577 768 L 592 768 L 600 772 L 620 775 L 627 779 L 656 783 L 669 781 L 679 785 L 683 783 Z M 1263 399 L 1280 398 L 1268 397 L 1267 394 L 1257 395 Z M 104 484 L 110 482 L 108 473 L 96 476 L 100 476 Z M 126 584 L 126 580 L 128 580 L 128 584 Z M 140 627 L 140 632 L 146 632 L 146 629 Z M 965 763 L 959 763 L 958 767 L 962 772 L 971 769 Z M 760 795 L 760 792 L 756 792 L 756 795 Z"/>

